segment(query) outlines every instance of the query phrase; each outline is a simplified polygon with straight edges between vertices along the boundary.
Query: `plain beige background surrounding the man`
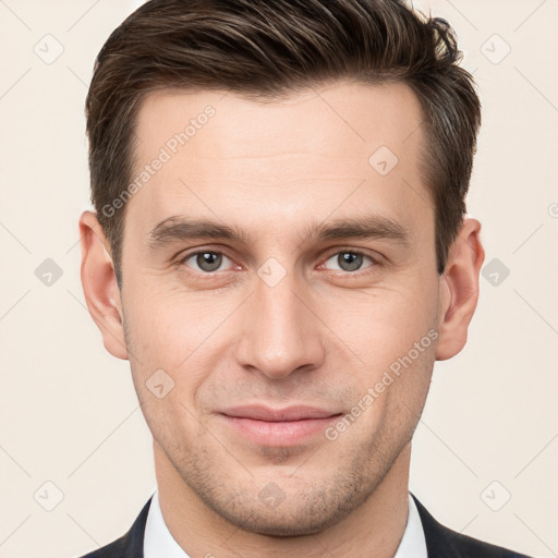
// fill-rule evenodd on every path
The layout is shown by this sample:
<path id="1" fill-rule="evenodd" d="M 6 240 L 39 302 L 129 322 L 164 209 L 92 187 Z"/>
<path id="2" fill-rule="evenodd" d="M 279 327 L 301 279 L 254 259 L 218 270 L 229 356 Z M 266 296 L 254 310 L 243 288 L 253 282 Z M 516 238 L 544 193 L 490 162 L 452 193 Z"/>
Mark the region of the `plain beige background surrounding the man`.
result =
<path id="1" fill-rule="evenodd" d="M 0 0 L 1 558 L 93 550 L 124 533 L 155 489 L 128 363 L 105 352 L 78 277 L 84 99 L 95 56 L 132 5 Z M 478 83 L 469 206 L 486 264 L 510 275 L 482 279 L 466 349 L 436 366 L 411 488 L 457 531 L 558 556 L 558 2 L 420 5 L 454 26 Z M 45 40 L 49 56 L 63 46 L 50 64 L 34 51 Z M 51 286 L 35 275 L 46 258 L 62 270 Z M 45 510 L 57 490 L 63 499 Z"/>

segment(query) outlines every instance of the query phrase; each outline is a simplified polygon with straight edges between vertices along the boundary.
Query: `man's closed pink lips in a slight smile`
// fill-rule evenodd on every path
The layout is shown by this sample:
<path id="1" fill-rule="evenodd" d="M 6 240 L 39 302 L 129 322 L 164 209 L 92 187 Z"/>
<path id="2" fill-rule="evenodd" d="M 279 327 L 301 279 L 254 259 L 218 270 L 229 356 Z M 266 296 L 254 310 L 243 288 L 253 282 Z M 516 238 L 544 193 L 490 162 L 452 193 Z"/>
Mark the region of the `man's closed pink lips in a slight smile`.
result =
<path id="1" fill-rule="evenodd" d="M 234 432 L 262 446 L 293 446 L 324 434 L 341 412 L 308 405 L 243 405 L 219 413 Z"/>

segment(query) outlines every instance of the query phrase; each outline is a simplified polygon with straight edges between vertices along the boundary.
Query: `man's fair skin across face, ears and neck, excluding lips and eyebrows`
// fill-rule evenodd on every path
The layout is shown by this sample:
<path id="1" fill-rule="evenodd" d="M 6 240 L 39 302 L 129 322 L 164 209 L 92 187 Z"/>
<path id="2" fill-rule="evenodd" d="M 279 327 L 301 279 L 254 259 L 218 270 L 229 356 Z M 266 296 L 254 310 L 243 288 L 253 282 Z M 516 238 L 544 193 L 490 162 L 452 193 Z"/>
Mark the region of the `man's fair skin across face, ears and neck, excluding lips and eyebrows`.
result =
<path id="1" fill-rule="evenodd" d="M 476 306 L 481 226 L 463 221 L 438 276 L 421 109 L 403 84 L 336 82 L 266 104 L 150 94 L 137 169 L 208 105 L 215 116 L 128 203 L 122 291 L 95 214 L 80 221 L 87 305 L 106 349 L 130 360 L 165 521 L 192 557 L 392 557 L 434 362 L 463 348 Z M 368 162 L 383 145 L 399 159 L 387 175 Z M 399 223 L 407 241 L 308 234 L 365 215 Z M 169 217 L 213 219 L 245 239 L 150 246 Z M 210 274 L 184 259 L 193 248 L 226 257 Z M 351 251 L 365 254 L 355 270 L 339 262 Z M 274 287 L 258 275 L 268 258 L 286 271 Z M 428 331 L 437 339 L 335 440 L 258 444 L 219 414 L 252 403 L 350 413 Z M 157 369 L 174 381 L 161 399 L 146 386 Z M 277 506 L 258 497 L 269 483 Z"/>

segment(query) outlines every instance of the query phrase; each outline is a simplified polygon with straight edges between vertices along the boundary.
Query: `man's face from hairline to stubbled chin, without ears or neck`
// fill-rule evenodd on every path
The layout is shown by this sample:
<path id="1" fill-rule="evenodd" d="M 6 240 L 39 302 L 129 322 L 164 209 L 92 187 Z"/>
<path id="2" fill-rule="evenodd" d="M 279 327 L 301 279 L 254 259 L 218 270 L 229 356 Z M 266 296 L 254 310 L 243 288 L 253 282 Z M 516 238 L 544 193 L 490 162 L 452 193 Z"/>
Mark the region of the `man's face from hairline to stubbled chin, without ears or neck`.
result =
<path id="1" fill-rule="evenodd" d="M 235 525 L 320 531 L 403 459 L 440 319 L 420 122 L 396 84 L 142 105 L 135 174 L 162 163 L 125 214 L 134 385 L 156 465 Z"/>

